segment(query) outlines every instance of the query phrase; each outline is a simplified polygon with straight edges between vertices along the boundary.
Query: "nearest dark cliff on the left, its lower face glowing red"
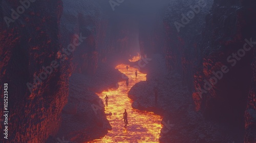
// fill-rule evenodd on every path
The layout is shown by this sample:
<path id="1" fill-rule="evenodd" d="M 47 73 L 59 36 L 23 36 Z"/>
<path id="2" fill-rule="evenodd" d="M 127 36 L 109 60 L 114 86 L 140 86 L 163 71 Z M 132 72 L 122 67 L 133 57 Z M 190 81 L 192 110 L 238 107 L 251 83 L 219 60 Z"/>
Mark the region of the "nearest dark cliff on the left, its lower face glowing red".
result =
<path id="1" fill-rule="evenodd" d="M 1 138 L 1 142 L 45 142 L 60 126 L 71 73 L 69 60 L 60 62 L 56 56 L 61 49 L 58 23 L 62 2 L 31 2 L 9 27 L 4 17 L 12 18 L 10 10 L 16 10 L 22 4 L 1 1 L 0 5 L 0 91 L 4 93 L 4 83 L 8 83 L 9 94 L 9 136 L 6 140 Z M 58 67 L 52 68 L 50 74 L 43 74 L 47 71 L 42 66 L 56 65 L 52 61 L 56 61 Z M 1 94 L 1 99 L 3 96 Z M 0 106 L 4 107 L 4 102 L 0 102 Z M 1 117 L 3 109 L 0 109 Z M 2 131 L 3 127 L 1 124 Z"/>

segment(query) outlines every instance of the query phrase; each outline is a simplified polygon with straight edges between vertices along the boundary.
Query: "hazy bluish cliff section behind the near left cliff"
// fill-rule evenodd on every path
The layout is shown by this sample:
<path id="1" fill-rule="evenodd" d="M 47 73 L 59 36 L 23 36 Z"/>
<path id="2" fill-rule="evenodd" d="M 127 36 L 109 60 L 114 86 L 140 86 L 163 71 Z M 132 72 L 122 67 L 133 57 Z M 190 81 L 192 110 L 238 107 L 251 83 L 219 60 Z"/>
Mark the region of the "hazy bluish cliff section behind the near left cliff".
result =
<path id="1" fill-rule="evenodd" d="M 63 14 L 60 20 L 61 42 L 68 57 L 72 57 L 75 73 L 93 75 L 96 71 L 101 17 L 102 11 L 95 1 L 63 0 Z M 84 37 L 75 41 L 79 42 L 78 44 L 74 44 L 76 35 Z"/>

